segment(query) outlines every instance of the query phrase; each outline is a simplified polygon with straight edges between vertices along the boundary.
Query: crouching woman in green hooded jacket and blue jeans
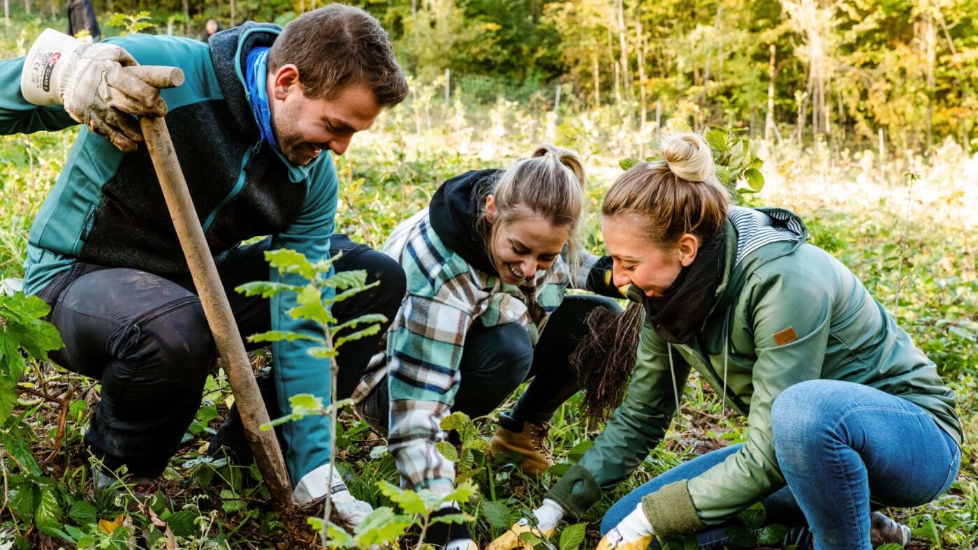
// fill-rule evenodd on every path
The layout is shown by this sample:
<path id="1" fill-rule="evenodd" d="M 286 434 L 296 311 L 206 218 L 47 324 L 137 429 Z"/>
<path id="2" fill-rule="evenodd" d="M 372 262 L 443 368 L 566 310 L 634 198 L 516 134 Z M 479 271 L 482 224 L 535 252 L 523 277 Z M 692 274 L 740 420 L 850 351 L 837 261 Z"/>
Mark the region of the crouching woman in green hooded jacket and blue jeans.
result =
<path id="1" fill-rule="evenodd" d="M 794 512 L 819 550 L 906 545 L 908 529 L 871 511 L 951 486 L 954 393 L 863 283 L 806 243 L 797 216 L 729 204 L 702 138 L 674 136 L 662 154 L 622 174 L 601 208 L 614 283 L 631 283 L 645 307 L 628 395 L 535 511 L 538 527 L 581 516 L 631 475 L 662 441 L 691 368 L 747 417 L 746 441 L 626 495 L 604 517 L 600 549 L 690 533 L 709 546 L 756 502 L 778 520 Z"/>

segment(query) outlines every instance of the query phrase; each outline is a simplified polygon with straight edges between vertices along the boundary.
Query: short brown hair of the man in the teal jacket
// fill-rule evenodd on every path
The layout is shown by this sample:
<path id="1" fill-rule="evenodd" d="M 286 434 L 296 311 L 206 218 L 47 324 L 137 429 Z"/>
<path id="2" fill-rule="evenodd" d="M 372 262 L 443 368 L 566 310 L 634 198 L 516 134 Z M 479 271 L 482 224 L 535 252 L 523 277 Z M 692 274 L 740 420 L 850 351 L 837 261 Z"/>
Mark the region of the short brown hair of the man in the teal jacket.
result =
<path id="1" fill-rule="evenodd" d="M 289 63 L 309 98 L 330 100 L 355 84 L 373 90 L 379 106 L 408 95 L 387 32 L 360 8 L 331 4 L 290 21 L 268 53 L 271 70 Z"/>

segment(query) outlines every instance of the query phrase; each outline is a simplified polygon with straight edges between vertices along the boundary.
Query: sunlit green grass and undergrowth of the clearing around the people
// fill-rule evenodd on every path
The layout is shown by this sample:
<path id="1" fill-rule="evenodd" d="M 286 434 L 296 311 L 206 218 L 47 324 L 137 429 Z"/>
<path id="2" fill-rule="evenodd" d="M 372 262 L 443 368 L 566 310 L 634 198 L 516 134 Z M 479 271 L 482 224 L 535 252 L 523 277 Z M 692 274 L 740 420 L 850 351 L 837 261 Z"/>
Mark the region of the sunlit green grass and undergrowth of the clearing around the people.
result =
<path id="1" fill-rule="evenodd" d="M 424 86 L 416 85 L 415 97 L 424 100 L 425 96 L 430 97 Z M 374 130 L 358 135 L 350 151 L 337 159 L 341 180 L 338 231 L 378 246 L 400 220 L 424 207 L 447 177 L 473 168 L 504 166 L 536 144 L 550 141 L 577 148 L 585 156 L 590 213 L 583 231 L 589 246 L 600 251 L 597 212 L 603 191 L 620 173 L 617 161 L 647 154 L 653 142 L 651 131 L 640 135 L 634 128 L 623 128 L 612 107 L 556 116 L 532 104 L 499 102 L 479 107 L 456 102 L 446 107 L 421 100 L 385 113 Z M 0 139 L 0 167 L 6 175 L 0 181 L 0 277 L 22 276 L 30 220 L 54 184 L 75 133 Z M 762 193 L 750 197 L 750 204 L 784 206 L 800 214 L 814 241 L 853 269 L 891 313 L 898 312 L 901 324 L 956 390 L 965 433 L 976 433 L 978 157 L 953 144 L 939 148 L 928 162 L 903 155 L 881 163 L 871 152 L 823 145 L 806 150 L 765 146 L 761 156 L 766 159 L 768 184 Z M 919 179 L 910 177 L 911 173 Z M 165 528 L 154 526 L 147 515 L 122 513 L 122 502 L 99 500 L 91 494 L 81 435 L 91 404 L 98 399 L 94 382 L 39 364 L 22 385 L 49 396 L 62 395 L 68 385 L 78 389 L 67 409 L 61 451 L 44 466 L 43 473 L 60 487 L 63 522 L 75 529 L 68 534 L 79 546 L 164 547 L 167 529 L 180 547 L 187 548 L 316 544 L 315 534 L 305 525 L 305 516 L 315 512 L 276 515 L 265 503 L 253 466 L 232 466 L 224 458 L 204 455 L 231 402 L 221 372 L 208 379 L 200 412 L 166 471 L 175 506 L 174 512 L 165 515 Z M 579 396 L 572 398 L 554 419 L 550 442 L 563 465 L 579 458 L 600 430 L 583 423 L 579 402 Z M 24 394 L 15 411 L 20 418 L 17 427 L 8 422 L 5 429 L 21 430 L 40 460 L 54 448 L 60 413 L 61 404 Z M 379 480 L 397 483 L 385 443 L 350 414 L 344 414 L 341 423 L 340 465 L 348 474 L 348 485 L 375 506 L 389 505 L 376 486 Z M 495 429 L 491 418 L 478 419 L 476 425 L 483 438 Z M 585 518 L 585 547 L 597 543 L 600 518 L 618 497 L 683 460 L 741 441 L 743 430 L 743 419 L 722 410 L 708 386 L 695 377 L 690 379 L 683 414 L 664 443 Z M 530 510 L 557 476 L 527 479 L 511 464 L 488 464 L 478 451 L 474 455 L 474 467 L 479 468 L 474 480 L 480 494 L 466 509 L 478 518 L 474 532 L 485 544 L 501 534 L 501 524 L 489 521 L 489 509 L 496 506 L 489 502 L 500 503 L 511 513 Z M 960 475 L 948 494 L 927 506 L 893 511 L 913 529 L 916 548 L 978 546 L 976 458 L 976 447 L 965 442 Z M 16 481 L 17 468 L 11 461 L 0 459 L 0 466 L 5 487 Z M 0 503 L 0 548 L 8 540 L 32 547 L 67 544 L 18 518 L 7 495 L 5 489 Z M 113 527 L 114 520 L 120 526 Z"/>

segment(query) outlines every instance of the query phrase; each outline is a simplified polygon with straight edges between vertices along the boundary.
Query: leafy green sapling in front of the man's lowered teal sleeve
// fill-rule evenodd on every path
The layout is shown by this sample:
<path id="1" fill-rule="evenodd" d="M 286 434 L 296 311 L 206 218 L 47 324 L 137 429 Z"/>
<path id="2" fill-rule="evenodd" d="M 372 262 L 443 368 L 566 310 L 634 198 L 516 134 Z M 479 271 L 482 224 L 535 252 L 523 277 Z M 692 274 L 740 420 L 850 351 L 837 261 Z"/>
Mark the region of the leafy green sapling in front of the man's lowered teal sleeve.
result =
<path id="1" fill-rule="evenodd" d="M 280 418 L 262 425 L 263 430 L 271 430 L 277 425 L 305 418 L 310 415 L 329 415 L 330 425 L 335 434 L 336 416 L 340 408 L 350 403 L 350 400 L 337 400 L 336 377 L 339 365 L 336 356 L 339 348 L 346 342 L 373 336 L 380 330 L 380 324 L 385 317 L 379 314 L 367 314 L 339 323 L 333 317 L 330 309 L 333 304 L 342 302 L 365 290 L 373 288 L 381 281 L 367 283 L 367 272 L 363 270 L 339 272 L 333 271 L 333 263 L 339 255 L 333 258 L 311 262 L 300 252 L 282 249 L 265 252 L 265 259 L 272 268 L 279 270 L 283 280 L 296 282 L 255 281 L 248 282 L 236 288 L 245 296 L 260 295 L 271 298 L 281 293 L 292 293 L 296 306 L 289 310 L 292 318 L 315 322 L 321 327 L 321 334 L 294 332 L 289 330 L 269 330 L 248 337 L 250 342 L 280 342 L 307 340 L 317 344 L 309 349 L 309 355 L 321 360 L 330 361 L 332 373 L 330 404 L 324 406 L 322 398 L 311 394 L 298 394 L 289 398 L 291 412 Z M 345 334 L 337 336 L 340 331 Z M 333 479 L 335 467 L 336 438 L 330 443 L 330 474 Z M 433 523 L 462 523 L 471 521 L 466 514 L 442 515 L 430 518 L 433 511 L 450 502 L 465 502 L 475 493 L 475 487 L 470 483 L 461 484 L 449 494 L 438 494 L 422 489 L 414 491 L 392 486 L 388 483 L 378 483 L 380 492 L 387 496 L 404 512 L 396 514 L 389 507 L 379 507 L 371 512 L 364 521 L 350 534 L 330 521 L 332 512 L 332 494 L 326 493 L 326 504 L 323 518 L 309 518 L 310 525 L 320 533 L 325 548 L 370 548 L 399 539 L 407 529 L 418 525 L 421 537 L 416 548 L 424 548 L 424 534 Z"/>

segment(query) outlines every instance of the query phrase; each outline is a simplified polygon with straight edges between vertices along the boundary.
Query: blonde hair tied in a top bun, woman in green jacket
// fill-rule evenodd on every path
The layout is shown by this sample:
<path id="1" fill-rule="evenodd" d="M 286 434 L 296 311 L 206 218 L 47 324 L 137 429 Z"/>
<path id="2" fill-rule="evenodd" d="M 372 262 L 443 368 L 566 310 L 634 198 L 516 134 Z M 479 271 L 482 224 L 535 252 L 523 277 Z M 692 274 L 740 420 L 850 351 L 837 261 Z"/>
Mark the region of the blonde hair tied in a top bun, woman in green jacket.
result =
<path id="1" fill-rule="evenodd" d="M 675 246 L 680 237 L 720 233 L 730 192 L 716 178 L 710 146 L 698 134 L 677 134 L 662 142 L 662 160 L 643 162 L 615 180 L 601 214 L 637 214 L 649 240 Z"/>

